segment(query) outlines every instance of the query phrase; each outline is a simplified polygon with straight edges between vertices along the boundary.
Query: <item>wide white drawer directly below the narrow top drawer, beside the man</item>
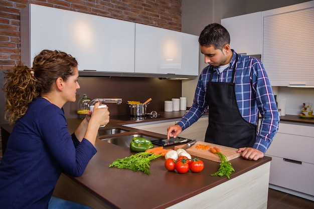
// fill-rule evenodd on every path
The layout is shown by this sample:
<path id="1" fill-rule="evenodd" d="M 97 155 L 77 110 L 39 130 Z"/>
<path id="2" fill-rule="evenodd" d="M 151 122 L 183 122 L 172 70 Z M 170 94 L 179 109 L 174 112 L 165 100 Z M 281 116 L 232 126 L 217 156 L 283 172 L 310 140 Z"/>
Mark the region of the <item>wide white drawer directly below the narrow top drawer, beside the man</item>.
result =
<path id="1" fill-rule="evenodd" d="M 277 133 L 266 154 L 314 164 L 313 148 L 313 137 Z"/>

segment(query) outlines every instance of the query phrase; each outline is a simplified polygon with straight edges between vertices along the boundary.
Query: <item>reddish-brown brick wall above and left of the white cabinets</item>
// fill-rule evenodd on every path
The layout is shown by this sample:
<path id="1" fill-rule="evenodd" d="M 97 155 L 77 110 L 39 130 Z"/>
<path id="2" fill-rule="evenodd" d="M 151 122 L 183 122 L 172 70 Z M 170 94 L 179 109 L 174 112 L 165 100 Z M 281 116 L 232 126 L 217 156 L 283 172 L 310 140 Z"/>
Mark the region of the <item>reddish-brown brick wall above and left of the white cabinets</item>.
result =
<path id="1" fill-rule="evenodd" d="M 181 31 L 181 0 L 0 0 L 0 70 L 20 62 L 20 12 L 27 4 Z"/>

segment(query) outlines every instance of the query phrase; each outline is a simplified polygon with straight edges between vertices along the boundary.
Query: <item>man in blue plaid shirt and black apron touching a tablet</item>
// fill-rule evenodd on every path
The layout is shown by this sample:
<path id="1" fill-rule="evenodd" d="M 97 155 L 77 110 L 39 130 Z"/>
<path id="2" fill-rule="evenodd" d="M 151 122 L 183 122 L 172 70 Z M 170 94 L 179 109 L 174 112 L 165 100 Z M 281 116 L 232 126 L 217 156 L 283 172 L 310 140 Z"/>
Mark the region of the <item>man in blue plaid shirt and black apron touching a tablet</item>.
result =
<path id="1" fill-rule="evenodd" d="M 239 148 L 249 160 L 264 157 L 278 131 L 275 98 L 262 63 L 230 48 L 230 35 L 210 24 L 199 37 L 205 67 L 199 77 L 193 105 L 181 121 L 168 127 L 168 139 L 177 137 L 209 110 L 205 141 Z M 258 113 L 262 120 L 257 132 Z"/>

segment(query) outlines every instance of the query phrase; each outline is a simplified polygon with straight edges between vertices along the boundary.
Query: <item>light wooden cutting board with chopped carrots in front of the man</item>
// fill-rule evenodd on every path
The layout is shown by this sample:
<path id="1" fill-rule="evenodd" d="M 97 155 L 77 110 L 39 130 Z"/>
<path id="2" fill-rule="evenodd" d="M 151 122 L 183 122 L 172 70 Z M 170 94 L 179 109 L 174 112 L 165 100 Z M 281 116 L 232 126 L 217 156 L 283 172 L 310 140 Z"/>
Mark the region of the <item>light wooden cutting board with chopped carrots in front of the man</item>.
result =
<path id="1" fill-rule="evenodd" d="M 219 149 L 221 149 L 221 152 L 227 157 L 228 160 L 232 160 L 234 158 L 240 157 L 241 153 L 237 153 L 236 148 L 232 148 L 232 147 L 227 147 L 227 146 L 222 146 L 222 145 L 217 145 L 217 144 L 211 144 L 208 142 L 204 142 L 204 141 L 198 141 L 196 142 L 193 146 L 191 146 L 190 148 L 186 149 L 186 151 L 191 154 L 194 155 L 196 157 L 201 157 L 204 159 L 208 159 L 208 160 L 212 160 L 215 162 L 221 162 L 220 157 L 217 154 L 212 153 L 211 151 L 209 151 L 209 149 L 197 149 L 195 148 L 198 144 L 204 144 L 204 145 L 209 145 L 211 147 L 218 147 Z M 175 146 L 175 150 L 182 148 L 185 144 L 183 145 L 178 145 Z"/>

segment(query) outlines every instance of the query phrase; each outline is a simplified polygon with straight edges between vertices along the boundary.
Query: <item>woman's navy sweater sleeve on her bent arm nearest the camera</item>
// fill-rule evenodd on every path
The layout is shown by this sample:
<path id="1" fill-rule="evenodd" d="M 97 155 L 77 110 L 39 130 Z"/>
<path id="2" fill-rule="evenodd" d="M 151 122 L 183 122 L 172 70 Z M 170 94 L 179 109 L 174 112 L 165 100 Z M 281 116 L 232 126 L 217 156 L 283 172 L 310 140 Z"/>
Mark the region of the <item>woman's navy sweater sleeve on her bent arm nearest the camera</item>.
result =
<path id="1" fill-rule="evenodd" d="M 71 136 L 63 111 L 51 106 L 42 110 L 37 124 L 46 148 L 64 172 L 81 176 L 97 150 L 88 140 L 79 142 L 74 134 Z"/>

